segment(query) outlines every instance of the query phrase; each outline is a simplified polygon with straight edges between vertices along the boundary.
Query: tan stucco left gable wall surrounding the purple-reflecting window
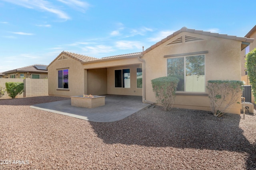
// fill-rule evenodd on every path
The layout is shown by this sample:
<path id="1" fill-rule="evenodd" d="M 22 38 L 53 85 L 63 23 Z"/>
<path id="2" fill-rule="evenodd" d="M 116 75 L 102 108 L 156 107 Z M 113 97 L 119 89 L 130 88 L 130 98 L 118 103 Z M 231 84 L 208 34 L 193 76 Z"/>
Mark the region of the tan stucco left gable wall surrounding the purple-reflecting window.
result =
<path id="1" fill-rule="evenodd" d="M 64 55 L 64 54 L 62 54 Z M 61 55 L 61 56 L 62 56 Z M 61 57 L 60 56 L 60 57 Z M 84 68 L 80 61 L 66 56 L 67 59 L 56 59 L 48 66 L 48 94 L 54 96 L 79 96 L 84 94 Z M 58 89 L 58 69 L 68 68 L 69 89 Z"/>

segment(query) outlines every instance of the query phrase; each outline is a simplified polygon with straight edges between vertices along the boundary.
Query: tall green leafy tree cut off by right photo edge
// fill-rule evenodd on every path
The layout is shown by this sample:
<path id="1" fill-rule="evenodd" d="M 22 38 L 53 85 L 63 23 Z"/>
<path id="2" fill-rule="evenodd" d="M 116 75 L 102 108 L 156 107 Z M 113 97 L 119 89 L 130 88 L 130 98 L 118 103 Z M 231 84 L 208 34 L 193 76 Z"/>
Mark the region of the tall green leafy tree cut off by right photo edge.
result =
<path id="1" fill-rule="evenodd" d="M 252 85 L 252 95 L 256 98 L 256 48 L 246 55 L 245 64 L 250 84 Z"/>

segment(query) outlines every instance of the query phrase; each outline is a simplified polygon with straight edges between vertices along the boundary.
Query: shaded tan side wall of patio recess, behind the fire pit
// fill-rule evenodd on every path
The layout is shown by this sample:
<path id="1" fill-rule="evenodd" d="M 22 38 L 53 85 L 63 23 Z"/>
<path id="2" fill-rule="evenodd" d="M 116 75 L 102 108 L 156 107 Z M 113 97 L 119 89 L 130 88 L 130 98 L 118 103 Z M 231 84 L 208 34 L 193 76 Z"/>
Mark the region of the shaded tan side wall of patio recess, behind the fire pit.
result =
<path id="1" fill-rule="evenodd" d="M 87 82 L 88 94 L 107 94 L 107 68 L 87 70 Z"/>

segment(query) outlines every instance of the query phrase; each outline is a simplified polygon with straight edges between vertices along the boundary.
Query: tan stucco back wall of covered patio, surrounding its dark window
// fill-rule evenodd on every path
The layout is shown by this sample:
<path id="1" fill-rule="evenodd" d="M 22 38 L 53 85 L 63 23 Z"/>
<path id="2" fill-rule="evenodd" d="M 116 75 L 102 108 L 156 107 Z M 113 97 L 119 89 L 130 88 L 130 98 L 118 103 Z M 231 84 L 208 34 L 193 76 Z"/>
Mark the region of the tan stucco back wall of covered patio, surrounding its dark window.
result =
<path id="1" fill-rule="evenodd" d="M 137 88 L 137 68 L 141 64 L 108 68 L 108 94 L 142 96 L 142 88 Z M 130 68 L 130 88 L 115 88 L 115 70 Z"/>

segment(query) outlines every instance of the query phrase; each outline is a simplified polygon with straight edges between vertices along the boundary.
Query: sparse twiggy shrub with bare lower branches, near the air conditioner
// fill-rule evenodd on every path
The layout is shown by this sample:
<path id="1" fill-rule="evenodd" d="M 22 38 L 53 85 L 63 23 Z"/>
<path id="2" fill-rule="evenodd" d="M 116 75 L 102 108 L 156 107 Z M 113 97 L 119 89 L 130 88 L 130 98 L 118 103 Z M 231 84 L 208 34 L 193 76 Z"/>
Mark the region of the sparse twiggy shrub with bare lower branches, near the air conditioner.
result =
<path id="1" fill-rule="evenodd" d="M 237 103 L 243 90 L 243 82 L 239 80 L 209 80 L 211 110 L 214 116 L 220 117 L 228 111 L 228 107 Z"/>

